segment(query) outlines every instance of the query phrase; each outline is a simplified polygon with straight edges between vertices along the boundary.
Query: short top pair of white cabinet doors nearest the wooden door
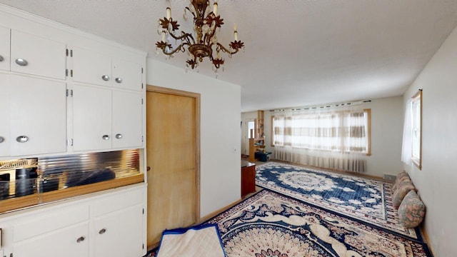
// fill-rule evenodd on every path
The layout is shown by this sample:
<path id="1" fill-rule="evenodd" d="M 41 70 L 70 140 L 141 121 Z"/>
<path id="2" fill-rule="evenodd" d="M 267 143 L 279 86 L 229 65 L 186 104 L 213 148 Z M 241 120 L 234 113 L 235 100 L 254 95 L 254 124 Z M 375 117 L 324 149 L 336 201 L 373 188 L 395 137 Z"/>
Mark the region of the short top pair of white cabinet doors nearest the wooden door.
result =
<path id="1" fill-rule="evenodd" d="M 143 88 L 141 64 L 78 47 L 72 52 L 74 81 L 135 91 Z"/>

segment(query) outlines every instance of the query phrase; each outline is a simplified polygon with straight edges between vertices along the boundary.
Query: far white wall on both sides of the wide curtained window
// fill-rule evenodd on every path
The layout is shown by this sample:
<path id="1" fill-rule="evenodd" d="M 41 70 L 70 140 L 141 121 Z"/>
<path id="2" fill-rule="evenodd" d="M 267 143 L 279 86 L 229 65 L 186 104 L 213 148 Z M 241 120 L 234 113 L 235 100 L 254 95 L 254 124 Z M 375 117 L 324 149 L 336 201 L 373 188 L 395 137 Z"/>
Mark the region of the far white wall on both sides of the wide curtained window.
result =
<path id="1" fill-rule="evenodd" d="M 323 103 L 327 104 L 327 103 Z M 403 170 L 401 164 L 401 141 L 403 133 L 403 98 L 401 96 L 383 99 L 372 99 L 363 104 L 371 109 L 371 156 L 366 156 L 367 172 L 372 176 L 382 177 L 386 174 L 396 175 Z M 274 151 L 271 146 L 272 111 L 265 111 L 264 128 L 266 149 Z"/>

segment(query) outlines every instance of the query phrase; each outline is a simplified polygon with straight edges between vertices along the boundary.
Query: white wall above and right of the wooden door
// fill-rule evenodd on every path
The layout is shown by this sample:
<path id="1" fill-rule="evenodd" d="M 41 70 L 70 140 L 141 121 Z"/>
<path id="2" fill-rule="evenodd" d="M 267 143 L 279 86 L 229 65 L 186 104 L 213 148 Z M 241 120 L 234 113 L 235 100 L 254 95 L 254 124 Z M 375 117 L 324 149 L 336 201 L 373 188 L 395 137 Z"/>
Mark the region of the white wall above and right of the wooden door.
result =
<path id="1" fill-rule="evenodd" d="M 201 216 L 237 201 L 241 87 L 152 59 L 147 67 L 147 84 L 201 94 Z"/>

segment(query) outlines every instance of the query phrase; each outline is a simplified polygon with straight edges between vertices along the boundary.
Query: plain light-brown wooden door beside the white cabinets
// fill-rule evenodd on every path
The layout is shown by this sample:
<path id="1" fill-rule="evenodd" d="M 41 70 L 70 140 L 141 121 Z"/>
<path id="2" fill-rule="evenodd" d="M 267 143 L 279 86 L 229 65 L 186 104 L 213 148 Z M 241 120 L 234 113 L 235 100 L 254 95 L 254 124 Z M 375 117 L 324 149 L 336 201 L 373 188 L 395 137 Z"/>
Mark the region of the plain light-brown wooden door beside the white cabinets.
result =
<path id="1" fill-rule="evenodd" d="M 158 245 L 164 229 L 190 226 L 199 219 L 199 98 L 147 88 L 149 248 Z"/>

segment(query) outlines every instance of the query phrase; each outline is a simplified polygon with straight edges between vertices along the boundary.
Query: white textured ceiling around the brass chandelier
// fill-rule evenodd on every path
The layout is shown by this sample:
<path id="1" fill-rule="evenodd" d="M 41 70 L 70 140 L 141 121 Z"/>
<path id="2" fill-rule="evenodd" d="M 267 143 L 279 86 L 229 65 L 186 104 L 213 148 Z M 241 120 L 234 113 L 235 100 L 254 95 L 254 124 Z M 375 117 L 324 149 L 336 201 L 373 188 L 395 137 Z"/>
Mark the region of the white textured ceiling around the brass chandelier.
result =
<path id="1" fill-rule="evenodd" d="M 0 0 L 185 66 L 186 54 L 156 56 L 165 0 Z M 219 0 L 219 41 L 245 53 L 226 57 L 218 79 L 241 86 L 241 109 L 276 109 L 401 96 L 457 25 L 457 0 Z M 189 1 L 171 0 L 182 18 Z M 209 60 L 199 72 L 214 76 Z M 185 79 L 185 78 L 184 78 Z"/>

